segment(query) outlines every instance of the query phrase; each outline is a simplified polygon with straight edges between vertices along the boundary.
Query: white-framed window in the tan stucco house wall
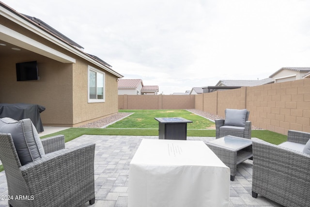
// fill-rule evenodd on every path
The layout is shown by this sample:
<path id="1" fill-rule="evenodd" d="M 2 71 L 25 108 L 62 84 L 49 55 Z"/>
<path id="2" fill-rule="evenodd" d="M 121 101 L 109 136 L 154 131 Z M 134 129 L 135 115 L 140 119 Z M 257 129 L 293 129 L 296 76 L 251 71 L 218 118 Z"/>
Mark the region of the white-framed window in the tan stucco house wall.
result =
<path id="1" fill-rule="evenodd" d="M 105 73 L 88 66 L 88 102 L 105 101 Z"/>

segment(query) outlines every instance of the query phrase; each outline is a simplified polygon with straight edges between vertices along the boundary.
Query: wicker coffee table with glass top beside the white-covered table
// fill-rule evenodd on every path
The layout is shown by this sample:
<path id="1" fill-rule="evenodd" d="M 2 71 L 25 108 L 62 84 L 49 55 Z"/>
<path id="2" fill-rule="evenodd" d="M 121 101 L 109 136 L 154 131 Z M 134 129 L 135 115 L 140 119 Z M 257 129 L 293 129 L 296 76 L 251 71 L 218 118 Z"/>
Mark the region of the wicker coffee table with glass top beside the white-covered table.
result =
<path id="1" fill-rule="evenodd" d="M 225 136 L 206 143 L 208 147 L 231 169 L 231 180 L 237 171 L 237 164 L 253 157 L 252 141 L 235 136 Z"/>

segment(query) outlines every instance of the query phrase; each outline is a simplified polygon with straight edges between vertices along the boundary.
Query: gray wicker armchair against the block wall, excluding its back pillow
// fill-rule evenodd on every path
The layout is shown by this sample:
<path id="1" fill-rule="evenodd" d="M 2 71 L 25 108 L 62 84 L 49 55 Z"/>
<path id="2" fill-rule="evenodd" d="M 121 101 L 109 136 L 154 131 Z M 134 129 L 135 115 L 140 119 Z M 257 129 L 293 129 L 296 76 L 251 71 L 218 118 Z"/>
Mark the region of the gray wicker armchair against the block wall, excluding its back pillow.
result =
<path id="1" fill-rule="evenodd" d="M 226 114 L 227 109 L 225 110 Z M 216 139 L 220 137 L 224 137 L 227 135 L 232 135 L 236 137 L 242 137 L 246 139 L 251 139 L 251 132 L 252 132 L 252 124 L 248 121 L 249 111 L 246 113 L 246 122 L 244 127 L 240 126 L 229 126 L 225 124 L 225 119 L 216 119 L 215 126 L 216 126 Z"/>

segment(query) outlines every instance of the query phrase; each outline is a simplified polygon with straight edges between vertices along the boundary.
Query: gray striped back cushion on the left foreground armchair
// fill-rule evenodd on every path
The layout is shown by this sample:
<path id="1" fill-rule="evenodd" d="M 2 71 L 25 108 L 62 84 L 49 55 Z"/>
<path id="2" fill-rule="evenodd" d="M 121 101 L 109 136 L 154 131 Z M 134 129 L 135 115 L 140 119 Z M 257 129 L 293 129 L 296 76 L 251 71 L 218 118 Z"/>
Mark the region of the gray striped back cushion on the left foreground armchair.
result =
<path id="1" fill-rule="evenodd" d="M 12 135 L 21 165 L 45 155 L 38 132 L 30 119 L 16 121 L 8 117 L 1 118 L 0 132 Z"/>

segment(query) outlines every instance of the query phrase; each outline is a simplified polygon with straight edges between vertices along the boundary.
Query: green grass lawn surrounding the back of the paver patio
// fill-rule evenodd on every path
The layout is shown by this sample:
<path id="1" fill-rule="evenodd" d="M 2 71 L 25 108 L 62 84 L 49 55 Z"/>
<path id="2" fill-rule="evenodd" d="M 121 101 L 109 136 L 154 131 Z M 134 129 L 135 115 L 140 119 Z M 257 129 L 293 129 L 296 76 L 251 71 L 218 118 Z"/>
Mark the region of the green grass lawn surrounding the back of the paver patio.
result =
<path id="1" fill-rule="evenodd" d="M 84 134 L 158 136 L 158 122 L 154 117 L 183 117 L 193 121 L 193 123 L 187 124 L 187 136 L 215 137 L 214 129 L 206 129 L 214 125 L 213 122 L 186 110 L 120 110 L 120 112 L 134 112 L 134 114 L 110 125 L 108 128 L 72 127 L 41 138 L 63 134 L 65 142 L 68 142 Z M 273 144 L 287 141 L 287 136 L 268 130 L 252 130 L 252 137 L 257 137 Z M 2 165 L 0 165 L 0 172 L 1 171 L 3 171 Z"/>

